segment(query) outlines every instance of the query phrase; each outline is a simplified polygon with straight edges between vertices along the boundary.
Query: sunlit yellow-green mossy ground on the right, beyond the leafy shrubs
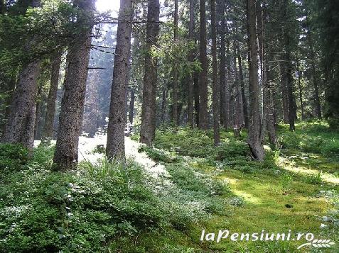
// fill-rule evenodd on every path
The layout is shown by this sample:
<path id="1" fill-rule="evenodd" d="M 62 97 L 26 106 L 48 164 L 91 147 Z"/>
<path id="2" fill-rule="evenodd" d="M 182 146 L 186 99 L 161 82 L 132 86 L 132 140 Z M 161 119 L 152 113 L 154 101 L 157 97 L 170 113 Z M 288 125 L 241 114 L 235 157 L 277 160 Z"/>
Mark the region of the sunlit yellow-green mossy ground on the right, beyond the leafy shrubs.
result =
<path id="1" fill-rule="evenodd" d="M 321 220 L 330 210 L 338 208 L 333 198 L 321 193 L 339 192 L 339 135 L 322 122 L 300 123 L 296 128 L 296 132 L 289 133 L 286 125 L 279 126 L 281 150 L 268 150 L 264 162 L 252 162 L 242 154 L 246 133 L 236 140 L 231 132 L 223 130 L 225 148 L 220 151 L 212 147 L 211 133 L 187 128 L 159 131 L 155 146 L 161 155 L 163 150 L 171 152 L 171 157 L 175 152 L 177 159 L 168 163 L 168 159 L 163 160 L 161 155 L 157 157 L 153 153 L 154 159 L 165 161 L 166 167 L 189 166 L 217 181 L 226 180 L 229 191 L 221 196 L 225 200 L 223 211 L 213 213 L 209 219 L 184 232 L 172 231 L 165 237 L 157 237 L 156 243 L 166 242 L 168 252 L 339 252 L 338 224 L 335 227 Z M 235 143 L 239 148 L 227 147 Z M 226 155 L 218 159 L 217 152 Z M 243 203 L 233 205 L 232 198 L 242 199 Z M 321 228 L 322 223 L 325 228 Z M 287 233 L 291 230 L 292 235 L 311 232 L 316 239 L 331 239 L 336 244 L 330 249 L 296 249 L 303 242 L 200 242 L 203 229 L 240 233 L 262 230 Z M 178 244 L 185 249 L 169 250 L 171 245 Z M 157 252 L 155 247 L 149 249 Z"/>

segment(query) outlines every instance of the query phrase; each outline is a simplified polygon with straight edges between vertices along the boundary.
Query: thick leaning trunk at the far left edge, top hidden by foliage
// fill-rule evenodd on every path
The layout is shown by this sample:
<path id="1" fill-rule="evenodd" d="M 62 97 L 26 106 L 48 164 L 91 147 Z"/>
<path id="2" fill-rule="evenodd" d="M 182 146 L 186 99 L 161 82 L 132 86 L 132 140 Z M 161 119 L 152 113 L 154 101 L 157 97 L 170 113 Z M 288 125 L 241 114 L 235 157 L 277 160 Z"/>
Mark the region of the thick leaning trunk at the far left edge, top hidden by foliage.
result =
<path id="1" fill-rule="evenodd" d="M 36 93 L 41 61 L 30 62 L 23 67 L 11 104 L 2 142 L 21 144 L 33 150 L 36 124 Z"/>

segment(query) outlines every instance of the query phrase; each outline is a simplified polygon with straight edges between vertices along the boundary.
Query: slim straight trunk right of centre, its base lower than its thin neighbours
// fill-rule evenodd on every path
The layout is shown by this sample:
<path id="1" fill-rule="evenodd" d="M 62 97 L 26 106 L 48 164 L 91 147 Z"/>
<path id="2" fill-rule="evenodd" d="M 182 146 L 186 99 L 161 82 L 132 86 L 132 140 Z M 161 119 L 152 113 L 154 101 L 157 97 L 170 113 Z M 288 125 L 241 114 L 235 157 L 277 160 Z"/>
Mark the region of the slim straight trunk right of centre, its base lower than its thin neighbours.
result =
<path id="1" fill-rule="evenodd" d="M 217 31 L 215 21 L 215 0 L 210 0 L 210 16 L 212 26 L 212 106 L 213 106 L 213 136 L 214 145 L 220 143 L 220 89 L 217 83 Z"/>

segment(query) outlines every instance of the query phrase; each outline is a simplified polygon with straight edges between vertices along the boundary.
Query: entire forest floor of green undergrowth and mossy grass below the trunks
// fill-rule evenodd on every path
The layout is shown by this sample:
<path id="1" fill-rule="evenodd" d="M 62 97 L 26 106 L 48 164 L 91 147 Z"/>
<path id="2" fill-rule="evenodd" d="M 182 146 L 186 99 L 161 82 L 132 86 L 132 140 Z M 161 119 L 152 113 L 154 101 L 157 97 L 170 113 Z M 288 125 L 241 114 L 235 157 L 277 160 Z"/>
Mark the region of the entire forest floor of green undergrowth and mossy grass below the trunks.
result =
<path id="1" fill-rule="evenodd" d="M 125 138 L 127 164 L 104 159 L 106 135 L 82 136 L 77 171 L 62 173 L 53 146 L 0 145 L 0 252 L 339 252 L 339 133 L 296 129 L 279 125 L 263 162 L 246 132 L 222 129 L 215 147 L 212 131 L 163 126 L 153 148 Z M 291 240 L 230 240 L 263 230 Z M 335 244 L 297 249 L 307 233 Z"/>

